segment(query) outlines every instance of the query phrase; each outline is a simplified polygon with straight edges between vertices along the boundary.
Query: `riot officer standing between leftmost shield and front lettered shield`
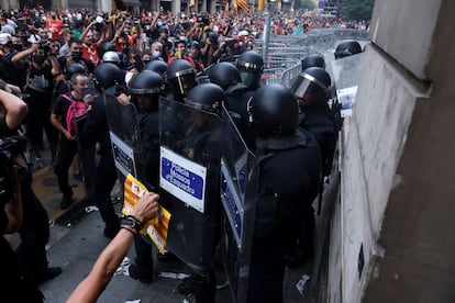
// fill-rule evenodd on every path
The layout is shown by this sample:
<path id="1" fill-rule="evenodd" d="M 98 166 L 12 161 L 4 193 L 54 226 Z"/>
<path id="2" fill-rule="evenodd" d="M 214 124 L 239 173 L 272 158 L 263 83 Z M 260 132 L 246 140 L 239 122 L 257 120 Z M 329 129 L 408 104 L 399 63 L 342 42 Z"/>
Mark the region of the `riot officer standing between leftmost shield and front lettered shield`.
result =
<path id="1" fill-rule="evenodd" d="M 159 97 L 165 92 L 165 82 L 159 74 L 144 70 L 130 87 L 131 102 L 137 109 L 137 132 L 140 137 L 142 167 L 138 168 L 141 181 L 149 190 L 158 188 L 159 175 Z M 141 176 L 142 175 L 142 176 Z M 134 239 L 135 263 L 129 268 L 131 278 L 143 283 L 153 280 L 152 242 L 138 235 Z"/>

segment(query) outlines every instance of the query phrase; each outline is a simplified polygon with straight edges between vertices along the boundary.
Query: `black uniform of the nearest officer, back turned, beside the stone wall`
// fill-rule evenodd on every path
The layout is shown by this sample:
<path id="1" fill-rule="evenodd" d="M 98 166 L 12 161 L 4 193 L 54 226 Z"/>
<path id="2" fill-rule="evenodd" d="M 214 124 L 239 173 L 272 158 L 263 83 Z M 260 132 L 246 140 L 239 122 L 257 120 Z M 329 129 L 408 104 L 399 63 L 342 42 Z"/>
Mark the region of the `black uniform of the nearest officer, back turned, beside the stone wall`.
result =
<path id="1" fill-rule="evenodd" d="M 320 150 L 308 132 L 258 139 L 259 184 L 248 302 L 282 302 L 286 259 L 318 193 Z"/>

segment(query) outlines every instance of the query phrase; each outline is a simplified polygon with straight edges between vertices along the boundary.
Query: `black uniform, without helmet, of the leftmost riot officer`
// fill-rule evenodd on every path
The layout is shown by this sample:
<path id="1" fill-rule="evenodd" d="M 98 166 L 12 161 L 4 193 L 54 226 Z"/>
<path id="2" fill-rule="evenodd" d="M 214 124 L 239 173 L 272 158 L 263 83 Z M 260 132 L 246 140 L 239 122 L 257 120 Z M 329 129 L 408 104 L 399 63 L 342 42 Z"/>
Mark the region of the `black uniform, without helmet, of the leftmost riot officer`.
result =
<path id="1" fill-rule="evenodd" d="M 106 96 L 108 102 L 116 102 L 112 96 Z M 106 224 L 104 235 L 113 237 L 120 228 L 120 221 L 111 202 L 111 192 L 116 181 L 115 164 L 112 156 L 106 105 L 101 96 L 91 102 L 90 114 L 79 134 L 82 148 L 99 143 L 99 161 L 95 170 L 95 202 Z"/>

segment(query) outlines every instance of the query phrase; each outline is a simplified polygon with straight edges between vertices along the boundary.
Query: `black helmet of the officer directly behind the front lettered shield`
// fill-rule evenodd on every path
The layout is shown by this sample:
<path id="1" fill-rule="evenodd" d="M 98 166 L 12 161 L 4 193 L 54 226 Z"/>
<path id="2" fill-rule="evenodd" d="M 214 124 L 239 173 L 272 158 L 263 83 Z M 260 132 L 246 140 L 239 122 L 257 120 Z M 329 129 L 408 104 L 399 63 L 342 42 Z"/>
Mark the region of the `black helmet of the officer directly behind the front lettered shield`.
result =
<path id="1" fill-rule="evenodd" d="M 220 86 L 203 83 L 190 90 L 185 99 L 185 104 L 221 115 L 221 104 L 226 101 L 228 97 Z"/>

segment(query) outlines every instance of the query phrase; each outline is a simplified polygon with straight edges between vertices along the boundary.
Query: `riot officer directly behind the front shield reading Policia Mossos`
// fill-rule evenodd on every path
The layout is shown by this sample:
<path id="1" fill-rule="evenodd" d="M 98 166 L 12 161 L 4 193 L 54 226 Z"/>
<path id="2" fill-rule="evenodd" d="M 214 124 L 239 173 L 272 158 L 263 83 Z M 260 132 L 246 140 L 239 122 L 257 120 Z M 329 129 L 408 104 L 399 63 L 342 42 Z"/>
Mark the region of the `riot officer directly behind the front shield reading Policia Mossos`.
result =
<path id="1" fill-rule="evenodd" d="M 219 86 L 203 83 L 195 87 L 187 96 L 185 105 L 195 109 L 187 117 L 187 133 L 182 138 L 181 154 L 186 158 L 208 167 L 204 213 L 187 212 L 191 218 L 191 237 L 199 239 L 190 250 L 191 260 L 202 260 L 193 274 L 177 288 L 180 293 L 195 291 L 196 302 L 214 302 L 217 283 L 213 272 L 213 255 L 219 239 L 220 227 L 220 125 L 221 104 L 228 98 Z M 203 111 L 206 113 L 201 113 Z M 207 114 L 209 112 L 210 114 Z M 217 184 L 217 186 L 214 186 Z M 189 214 L 188 214 L 189 213 Z M 188 228 L 188 227 L 187 227 Z M 192 290 L 193 288 L 193 290 Z"/>

